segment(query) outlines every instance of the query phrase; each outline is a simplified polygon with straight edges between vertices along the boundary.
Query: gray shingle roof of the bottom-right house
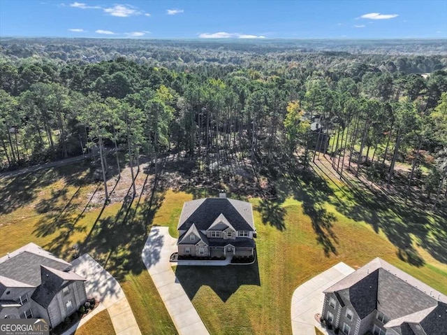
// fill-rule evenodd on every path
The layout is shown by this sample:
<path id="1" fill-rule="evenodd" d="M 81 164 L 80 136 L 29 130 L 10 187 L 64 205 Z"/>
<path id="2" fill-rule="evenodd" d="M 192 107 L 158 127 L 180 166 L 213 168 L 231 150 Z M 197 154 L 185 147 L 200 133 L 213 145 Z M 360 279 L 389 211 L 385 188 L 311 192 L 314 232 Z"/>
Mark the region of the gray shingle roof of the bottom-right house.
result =
<path id="1" fill-rule="evenodd" d="M 383 259 L 373 259 L 324 292 L 346 291 L 360 318 L 376 309 L 391 319 L 386 328 L 413 333 L 409 325 L 420 323 L 427 335 L 440 334 L 440 329 L 447 334 L 447 297 Z"/>

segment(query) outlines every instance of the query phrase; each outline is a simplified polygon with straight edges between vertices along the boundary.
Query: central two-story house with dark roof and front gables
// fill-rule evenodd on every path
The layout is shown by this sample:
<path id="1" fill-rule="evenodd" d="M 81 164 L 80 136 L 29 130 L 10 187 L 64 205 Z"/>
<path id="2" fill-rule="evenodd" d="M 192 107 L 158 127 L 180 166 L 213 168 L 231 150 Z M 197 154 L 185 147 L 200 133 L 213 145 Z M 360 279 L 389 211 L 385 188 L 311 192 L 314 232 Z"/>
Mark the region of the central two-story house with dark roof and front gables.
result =
<path id="1" fill-rule="evenodd" d="M 256 236 L 253 210 L 246 201 L 219 198 L 186 201 L 180 215 L 179 256 L 253 256 Z"/>

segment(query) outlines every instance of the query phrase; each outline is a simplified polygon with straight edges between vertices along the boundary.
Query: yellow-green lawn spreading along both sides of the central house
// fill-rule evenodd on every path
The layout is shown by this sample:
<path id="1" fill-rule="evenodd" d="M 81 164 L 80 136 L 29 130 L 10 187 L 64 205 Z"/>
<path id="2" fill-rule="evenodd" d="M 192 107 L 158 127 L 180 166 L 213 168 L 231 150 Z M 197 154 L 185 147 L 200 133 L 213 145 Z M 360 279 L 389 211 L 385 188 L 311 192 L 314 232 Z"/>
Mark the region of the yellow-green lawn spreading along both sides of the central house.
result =
<path id="1" fill-rule="evenodd" d="M 89 173 L 80 171 L 81 179 L 81 172 Z M 113 204 L 96 222 L 101 208 L 78 218 L 96 185 L 67 176 L 52 169 L 24 177 L 32 183 L 1 181 L 0 200 L 8 207 L 0 214 L 0 255 L 33 241 L 69 259 L 71 245 L 79 243 L 120 280 L 143 334 L 175 334 L 140 254 L 152 225 L 168 226 L 176 236 L 183 203 L 193 194 L 167 190 Z M 14 183 L 31 187 L 12 206 L 5 194 L 13 194 Z M 379 194 L 365 193 L 360 201 L 340 183 L 311 176 L 286 176 L 274 186 L 277 201 L 249 199 L 258 262 L 175 269 L 211 334 L 291 334 L 293 291 L 338 262 L 358 267 L 382 257 L 447 293 L 446 218 Z"/>

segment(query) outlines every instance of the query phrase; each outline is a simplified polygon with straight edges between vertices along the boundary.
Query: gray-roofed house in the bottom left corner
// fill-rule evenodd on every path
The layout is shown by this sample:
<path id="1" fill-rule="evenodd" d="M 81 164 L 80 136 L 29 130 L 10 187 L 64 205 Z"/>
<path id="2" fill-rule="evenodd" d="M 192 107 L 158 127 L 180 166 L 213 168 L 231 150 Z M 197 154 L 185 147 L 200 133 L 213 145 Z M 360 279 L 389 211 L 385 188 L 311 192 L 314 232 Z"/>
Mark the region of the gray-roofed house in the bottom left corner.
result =
<path id="1" fill-rule="evenodd" d="M 34 243 L 0 258 L 0 318 L 43 318 L 54 328 L 87 301 L 85 278 Z"/>

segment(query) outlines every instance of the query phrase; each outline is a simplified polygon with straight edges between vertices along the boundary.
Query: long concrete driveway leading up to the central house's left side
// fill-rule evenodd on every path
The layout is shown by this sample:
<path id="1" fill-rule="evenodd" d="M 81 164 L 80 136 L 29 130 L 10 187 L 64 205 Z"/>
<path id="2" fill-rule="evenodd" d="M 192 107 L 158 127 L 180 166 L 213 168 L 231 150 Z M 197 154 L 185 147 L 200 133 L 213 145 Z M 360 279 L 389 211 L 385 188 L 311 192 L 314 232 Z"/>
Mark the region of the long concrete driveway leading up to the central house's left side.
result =
<path id="1" fill-rule="evenodd" d="M 180 335 L 209 335 L 170 266 L 169 257 L 177 251 L 176 243 L 177 239 L 169 235 L 168 227 L 152 227 L 142 250 L 142 261 L 154 280 L 177 332 Z"/>

